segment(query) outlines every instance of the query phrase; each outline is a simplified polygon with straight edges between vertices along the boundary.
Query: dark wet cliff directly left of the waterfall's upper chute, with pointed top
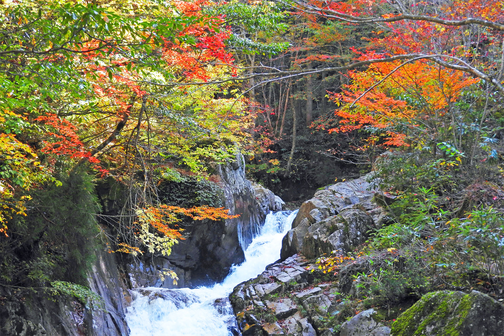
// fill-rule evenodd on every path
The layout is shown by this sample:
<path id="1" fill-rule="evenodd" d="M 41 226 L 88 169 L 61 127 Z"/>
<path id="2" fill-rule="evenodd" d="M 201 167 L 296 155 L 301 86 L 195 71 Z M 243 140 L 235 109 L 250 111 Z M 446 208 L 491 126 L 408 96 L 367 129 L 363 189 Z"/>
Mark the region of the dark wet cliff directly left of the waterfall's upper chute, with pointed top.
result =
<path id="1" fill-rule="evenodd" d="M 223 205 L 230 214 L 240 217 L 226 221 L 193 222 L 184 227 L 185 240 L 174 245 L 169 256 L 154 256 L 145 263 L 129 264 L 133 287 L 184 288 L 220 282 L 233 264 L 243 262 L 243 250 L 257 236 L 270 211 L 282 210 L 283 200 L 245 176 L 243 156 L 218 165 L 216 179 L 223 190 Z M 179 281 L 161 282 L 156 270 L 168 268 L 177 273 Z"/>

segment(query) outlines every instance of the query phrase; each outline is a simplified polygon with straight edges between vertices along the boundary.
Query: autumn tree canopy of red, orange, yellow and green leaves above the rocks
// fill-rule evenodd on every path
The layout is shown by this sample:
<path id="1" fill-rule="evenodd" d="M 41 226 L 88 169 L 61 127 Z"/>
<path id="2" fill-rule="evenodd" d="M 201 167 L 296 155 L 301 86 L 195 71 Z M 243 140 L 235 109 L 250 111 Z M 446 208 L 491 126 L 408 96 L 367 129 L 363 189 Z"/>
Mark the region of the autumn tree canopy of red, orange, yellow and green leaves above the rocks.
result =
<path id="1" fill-rule="evenodd" d="M 45 191 L 96 214 L 93 183 L 113 181 L 128 195 L 107 219 L 114 250 L 169 253 L 178 216 L 231 215 L 163 204 L 159 185 L 209 180 L 237 149 L 292 200 L 293 181 L 312 190 L 389 150 L 429 156 L 438 176 L 502 159 L 498 1 L 21 0 L 0 13 L 4 250 L 64 241 L 47 234 Z"/>

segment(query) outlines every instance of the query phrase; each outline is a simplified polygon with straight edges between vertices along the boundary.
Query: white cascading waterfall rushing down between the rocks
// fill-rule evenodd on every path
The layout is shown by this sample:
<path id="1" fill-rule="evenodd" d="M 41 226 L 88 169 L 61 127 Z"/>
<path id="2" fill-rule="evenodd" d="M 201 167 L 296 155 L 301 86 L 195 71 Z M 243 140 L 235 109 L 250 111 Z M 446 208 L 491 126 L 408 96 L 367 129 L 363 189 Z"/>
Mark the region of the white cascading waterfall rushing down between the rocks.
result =
<path id="1" fill-rule="evenodd" d="M 296 214 L 297 210 L 269 213 L 261 233 L 245 250 L 245 261 L 233 266 L 220 284 L 195 289 L 135 289 L 126 313 L 131 336 L 238 334 L 229 302 L 219 299 L 227 298 L 236 285 L 255 278 L 280 258 L 282 238 Z"/>

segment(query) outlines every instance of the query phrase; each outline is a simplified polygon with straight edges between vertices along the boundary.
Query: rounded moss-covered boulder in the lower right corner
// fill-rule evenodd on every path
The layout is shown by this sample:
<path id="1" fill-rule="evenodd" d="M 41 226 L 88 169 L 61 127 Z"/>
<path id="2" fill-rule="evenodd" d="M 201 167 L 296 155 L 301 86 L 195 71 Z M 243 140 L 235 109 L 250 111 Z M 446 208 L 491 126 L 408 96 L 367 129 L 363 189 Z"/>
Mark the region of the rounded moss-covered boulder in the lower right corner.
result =
<path id="1" fill-rule="evenodd" d="M 482 336 L 504 333 L 504 306 L 472 291 L 425 294 L 392 324 L 391 336 Z"/>

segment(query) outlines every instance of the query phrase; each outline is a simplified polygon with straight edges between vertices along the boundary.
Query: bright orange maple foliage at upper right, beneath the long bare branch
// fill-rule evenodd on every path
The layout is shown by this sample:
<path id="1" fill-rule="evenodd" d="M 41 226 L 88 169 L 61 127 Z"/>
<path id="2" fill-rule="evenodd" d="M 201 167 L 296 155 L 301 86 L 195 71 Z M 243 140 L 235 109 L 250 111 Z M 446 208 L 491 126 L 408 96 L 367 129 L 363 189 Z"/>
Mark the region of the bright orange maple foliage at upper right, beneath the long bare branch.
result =
<path id="1" fill-rule="evenodd" d="M 359 60 L 381 56 L 370 51 L 362 54 Z M 399 61 L 375 63 L 367 71 L 349 72 L 352 84 L 341 93 L 331 95 L 338 104 L 345 105 L 335 112 L 341 118 L 340 125 L 329 129 L 329 132 L 348 132 L 371 126 L 383 130 L 387 135 L 383 145 L 409 146 L 405 141 L 405 133 L 394 130 L 396 125 L 414 128 L 423 121 L 444 115 L 449 105 L 459 98 L 462 89 L 479 81 L 460 71 L 432 66 L 424 60 L 407 63 L 392 73 L 400 64 Z M 360 97 L 382 80 L 383 83 Z M 402 95 L 421 99 L 422 107 L 419 109 L 406 100 L 394 98 Z M 350 108 L 357 99 L 355 107 Z"/>

